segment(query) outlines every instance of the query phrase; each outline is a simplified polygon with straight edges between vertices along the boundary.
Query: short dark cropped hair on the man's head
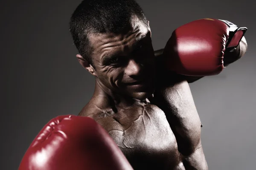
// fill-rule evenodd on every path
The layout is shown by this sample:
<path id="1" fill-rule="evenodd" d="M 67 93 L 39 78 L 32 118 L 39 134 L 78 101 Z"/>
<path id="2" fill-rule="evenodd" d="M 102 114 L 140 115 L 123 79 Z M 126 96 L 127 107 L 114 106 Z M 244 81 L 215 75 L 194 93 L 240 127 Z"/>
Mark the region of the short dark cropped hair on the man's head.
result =
<path id="1" fill-rule="evenodd" d="M 148 20 L 135 0 L 83 0 L 70 19 L 70 32 L 81 56 L 91 65 L 90 33 L 121 33 L 137 16 L 144 24 Z"/>

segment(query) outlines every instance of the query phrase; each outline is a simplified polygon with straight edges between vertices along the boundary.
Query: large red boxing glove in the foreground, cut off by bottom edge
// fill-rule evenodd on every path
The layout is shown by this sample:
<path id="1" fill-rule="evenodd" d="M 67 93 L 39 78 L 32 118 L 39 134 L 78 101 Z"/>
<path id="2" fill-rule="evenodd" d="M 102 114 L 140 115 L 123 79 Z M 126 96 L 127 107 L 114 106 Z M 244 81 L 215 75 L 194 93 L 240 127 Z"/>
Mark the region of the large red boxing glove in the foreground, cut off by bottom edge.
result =
<path id="1" fill-rule="evenodd" d="M 132 170 L 122 151 L 93 119 L 58 116 L 29 146 L 19 170 Z"/>

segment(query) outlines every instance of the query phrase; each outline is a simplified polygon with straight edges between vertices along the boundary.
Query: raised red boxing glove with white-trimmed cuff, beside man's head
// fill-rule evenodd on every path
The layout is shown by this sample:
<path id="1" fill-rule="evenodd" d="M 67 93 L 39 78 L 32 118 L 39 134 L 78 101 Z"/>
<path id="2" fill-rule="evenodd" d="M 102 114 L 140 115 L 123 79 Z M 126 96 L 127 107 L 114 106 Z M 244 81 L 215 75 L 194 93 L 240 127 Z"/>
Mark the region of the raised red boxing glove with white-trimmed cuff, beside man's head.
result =
<path id="1" fill-rule="evenodd" d="M 247 28 L 217 19 L 201 19 L 177 28 L 163 51 L 166 68 L 177 74 L 209 76 L 223 68 L 225 50 L 239 45 Z"/>

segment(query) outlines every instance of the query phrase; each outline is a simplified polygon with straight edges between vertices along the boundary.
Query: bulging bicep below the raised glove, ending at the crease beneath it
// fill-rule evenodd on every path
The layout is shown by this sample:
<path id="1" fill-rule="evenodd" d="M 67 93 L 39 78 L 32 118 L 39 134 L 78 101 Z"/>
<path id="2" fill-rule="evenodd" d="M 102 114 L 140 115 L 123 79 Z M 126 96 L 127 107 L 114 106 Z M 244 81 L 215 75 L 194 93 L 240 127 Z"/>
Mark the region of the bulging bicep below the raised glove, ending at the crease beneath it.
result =
<path id="1" fill-rule="evenodd" d="M 201 138 L 201 120 L 186 80 L 157 89 L 153 99 L 166 113 L 180 152 L 184 155 L 192 153 Z"/>

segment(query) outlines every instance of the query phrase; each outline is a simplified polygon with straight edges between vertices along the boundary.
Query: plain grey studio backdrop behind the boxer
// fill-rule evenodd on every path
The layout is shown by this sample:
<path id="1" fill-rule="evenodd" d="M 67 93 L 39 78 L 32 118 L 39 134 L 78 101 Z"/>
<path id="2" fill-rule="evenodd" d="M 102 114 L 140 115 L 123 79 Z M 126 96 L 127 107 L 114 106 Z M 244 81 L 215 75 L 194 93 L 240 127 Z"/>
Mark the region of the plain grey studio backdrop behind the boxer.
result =
<path id="1" fill-rule="evenodd" d="M 190 84 L 203 123 L 210 170 L 253 170 L 256 161 L 255 2 L 250 0 L 139 0 L 155 50 L 172 31 L 205 17 L 246 26 L 247 54 L 218 76 Z M 58 115 L 78 114 L 94 78 L 76 60 L 68 30 L 80 0 L 1 1 L 2 170 L 17 169 L 36 134 Z"/>

